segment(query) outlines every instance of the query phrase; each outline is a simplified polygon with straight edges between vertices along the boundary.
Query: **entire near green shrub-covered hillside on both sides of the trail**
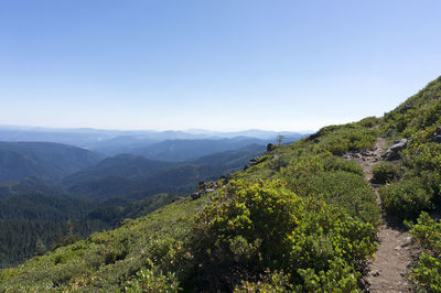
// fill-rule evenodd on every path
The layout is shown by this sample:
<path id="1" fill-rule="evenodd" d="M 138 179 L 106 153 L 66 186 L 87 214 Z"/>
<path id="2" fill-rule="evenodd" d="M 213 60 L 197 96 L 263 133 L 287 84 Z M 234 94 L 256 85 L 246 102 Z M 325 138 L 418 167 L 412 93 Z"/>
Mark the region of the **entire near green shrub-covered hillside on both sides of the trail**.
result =
<path id="1" fill-rule="evenodd" d="M 347 156 L 379 139 L 401 143 L 373 170 L 381 206 Z M 0 290 L 357 292 L 383 208 L 420 245 L 408 281 L 440 292 L 440 142 L 441 77 L 383 118 L 275 144 L 195 196 L 1 270 Z"/>

